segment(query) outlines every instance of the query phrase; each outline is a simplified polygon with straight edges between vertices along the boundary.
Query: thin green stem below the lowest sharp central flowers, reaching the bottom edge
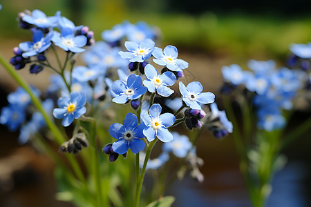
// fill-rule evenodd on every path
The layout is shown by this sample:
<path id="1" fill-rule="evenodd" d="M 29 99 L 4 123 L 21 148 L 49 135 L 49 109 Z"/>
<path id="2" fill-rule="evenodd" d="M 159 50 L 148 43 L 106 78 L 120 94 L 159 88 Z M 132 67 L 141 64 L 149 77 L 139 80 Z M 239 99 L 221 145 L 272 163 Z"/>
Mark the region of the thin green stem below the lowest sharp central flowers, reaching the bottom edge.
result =
<path id="1" fill-rule="evenodd" d="M 149 143 L 149 146 L 147 147 L 146 157 L 144 157 L 144 165 L 142 166 L 142 172 L 140 173 L 140 177 L 139 177 L 138 183 L 136 185 L 135 199 L 134 199 L 134 205 L 133 205 L 134 207 L 138 207 L 140 204 L 140 193 L 142 192 L 142 183 L 144 181 L 144 173 L 146 172 L 146 167 L 147 167 L 147 163 L 149 161 L 151 150 L 157 141 L 158 141 L 158 138 L 154 139 L 153 141 L 151 141 Z"/>

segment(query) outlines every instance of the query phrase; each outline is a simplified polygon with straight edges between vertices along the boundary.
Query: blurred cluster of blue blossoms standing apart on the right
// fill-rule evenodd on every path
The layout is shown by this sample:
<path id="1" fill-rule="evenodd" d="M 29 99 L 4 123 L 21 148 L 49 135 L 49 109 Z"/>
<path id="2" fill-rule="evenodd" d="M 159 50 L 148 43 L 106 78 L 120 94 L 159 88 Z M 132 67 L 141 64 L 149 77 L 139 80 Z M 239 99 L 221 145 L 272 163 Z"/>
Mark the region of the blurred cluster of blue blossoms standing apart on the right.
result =
<path id="1" fill-rule="evenodd" d="M 225 86 L 223 92 L 239 90 L 245 87 L 252 92 L 252 101 L 257 108 L 257 126 L 264 130 L 283 128 L 285 117 L 282 110 L 293 108 L 293 99 L 305 82 L 305 72 L 276 69 L 275 61 L 249 60 L 248 68 L 244 71 L 236 64 L 222 68 Z"/>

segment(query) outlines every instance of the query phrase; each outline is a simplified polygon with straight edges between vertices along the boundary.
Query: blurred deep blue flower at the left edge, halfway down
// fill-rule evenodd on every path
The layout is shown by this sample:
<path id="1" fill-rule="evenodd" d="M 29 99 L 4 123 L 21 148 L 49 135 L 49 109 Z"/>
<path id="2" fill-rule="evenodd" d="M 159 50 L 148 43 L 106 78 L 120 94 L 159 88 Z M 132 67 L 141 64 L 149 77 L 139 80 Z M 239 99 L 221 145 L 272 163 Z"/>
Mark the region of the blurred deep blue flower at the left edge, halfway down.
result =
<path id="1" fill-rule="evenodd" d="M 22 107 L 10 104 L 1 109 L 0 123 L 8 126 L 11 131 L 17 130 L 25 119 L 26 112 Z"/>

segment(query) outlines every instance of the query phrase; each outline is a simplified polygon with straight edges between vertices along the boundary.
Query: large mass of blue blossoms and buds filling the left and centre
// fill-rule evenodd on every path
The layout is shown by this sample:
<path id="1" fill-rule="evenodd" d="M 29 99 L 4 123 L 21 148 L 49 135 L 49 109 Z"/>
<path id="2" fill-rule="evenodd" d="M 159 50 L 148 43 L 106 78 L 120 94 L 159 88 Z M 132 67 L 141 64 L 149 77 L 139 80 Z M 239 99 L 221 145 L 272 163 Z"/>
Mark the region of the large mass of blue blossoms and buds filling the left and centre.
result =
<path id="1" fill-rule="evenodd" d="M 124 21 L 102 32 L 103 41 L 95 43 L 93 32 L 88 27 L 75 26 L 60 12 L 53 17 L 47 17 L 40 10 L 21 12 L 19 24 L 21 28 L 31 30 L 32 41 L 14 48 L 15 57 L 10 59 L 10 63 L 17 70 L 31 63 L 30 73 L 34 74 L 44 68 L 56 73 L 50 77 L 50 86 L 44 92 L 44 105 L 50 115 L 62 120 L 62 126 L 70 126 L 75 119 L 90 120 L 93 118 L 87 117 L 92 116 L 90 111 L 111 106 L 107 100 L 129 103 L 135 110 L 136 115 L 129 112 L 123 125 L 114 123 L 109 127 L 109 134 L 117 141 L 107 144 L 103 152 L 109 155 L 111 162 L 119 155 L 126 157 L 129 149 L 133 153 L 141 152 L 146 143 L 155 139 L 163 142 L 163 152 L 150 160 L 147 168 L 162 166 L 170 152 L 176 157 L 194 160 L 196 153 L 189 138 L 169 130 L 181 123 L 185 123 L 189 130 L 206 124 L 211 126 L 209 129 L 216 137 L 232 132 L 232 124 L 224 112 L 203 110 L 205 104 L 214 103 L 213 93 L 202 92 L 202 84 L 198 81 L 187 86 L 180 81 L 189 64 L 178 58 L 175 46 L 156 47 L 159 34 L 156 28 L 144 22 L 132 24 Z M 124 41 L 126 39 L 128 41 Z M 55 46 L 66 52 L 64 64 L 60 63 Z M 86 50 L 84 46 L 91 47 Z M 123 46 L 126 51 L 122 51 Z M 48 50 L 54 52 L 59 68 L 48 60 Z M 74 66 L 75 54 L 81 52 L 86 66 Z M 162 68 L 160 73 L 156 67 Z M 180 97 L 171 88 L 178 81 Z M 36 94 L 39 96 L 40 92 Z M 60 98 L 57 100 L 55 97 Z M 10 130 L 20 128 L 19 140 L 22 143 L 46 126 L 39 112 L 30 107 L 30 97 L 25 91 L 18 89 L 12 92 L 8 102 L 9 106 L 1 111 L 1 124 L 9 126 Z M 58 107 L 55 108 L 56 104 Z M 32 118 L 26 118 L 28 113 Z M 86 147 L 87 141 L 80 132 L 59 150 L 76 153 L 82 150 L 82 146 Z M 200 165 L 198 157 L 195 160 L 193 169 Z M 198 170 L 195 171 L 193 174 L 199 176 Z"/>

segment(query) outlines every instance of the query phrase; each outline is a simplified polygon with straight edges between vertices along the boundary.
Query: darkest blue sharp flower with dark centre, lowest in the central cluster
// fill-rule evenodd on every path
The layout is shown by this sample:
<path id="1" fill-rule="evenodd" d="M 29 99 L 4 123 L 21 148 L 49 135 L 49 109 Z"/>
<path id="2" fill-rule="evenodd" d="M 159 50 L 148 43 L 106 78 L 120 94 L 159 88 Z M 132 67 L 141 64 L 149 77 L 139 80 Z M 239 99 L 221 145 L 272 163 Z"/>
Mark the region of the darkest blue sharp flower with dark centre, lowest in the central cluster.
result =
<path id="1" fill-rule="evenodd" d="M 138 125 L 138 119 L 133 113 L 128 113 L 124 119 L 124 126 L 120 123 L 114 123 L 109 127 L 109 134 L 117 139 L 113 143 L 113 151 L 122 155 L 129 148 L 133 153 L 138 153 L 144 149 L 144 138 L 142 130 L 145 128 L 144 124 Z"/>

